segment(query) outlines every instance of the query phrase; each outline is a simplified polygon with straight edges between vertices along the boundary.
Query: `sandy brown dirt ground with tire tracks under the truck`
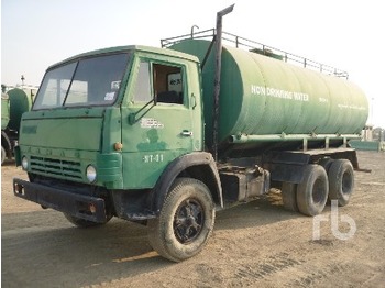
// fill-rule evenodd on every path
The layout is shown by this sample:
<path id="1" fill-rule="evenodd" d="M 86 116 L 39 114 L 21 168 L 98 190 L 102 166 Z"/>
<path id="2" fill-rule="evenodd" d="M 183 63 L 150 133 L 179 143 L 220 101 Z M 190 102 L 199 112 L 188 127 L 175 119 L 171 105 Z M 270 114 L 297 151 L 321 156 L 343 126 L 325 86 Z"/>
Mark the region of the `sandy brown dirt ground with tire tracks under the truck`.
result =
<path id="1" fill-rule="evenodd" d="M 350 239 L 334 236 L 329 206 L 314 240 L 314 219 L 284 210 L 271 191 L 218 212 L 206 248 L 179 264 L 152 251 L 145 226 L 112 219 L 77 229 L 14 197 L 12 178 L 25 175 L 9 163 L 1 169 L 2 287 L 384 287 L 385 153 L 360 152 L 359 160 L 372 173 L 355 173 L 354 196 L 338 210 L 337 232 Z"/>

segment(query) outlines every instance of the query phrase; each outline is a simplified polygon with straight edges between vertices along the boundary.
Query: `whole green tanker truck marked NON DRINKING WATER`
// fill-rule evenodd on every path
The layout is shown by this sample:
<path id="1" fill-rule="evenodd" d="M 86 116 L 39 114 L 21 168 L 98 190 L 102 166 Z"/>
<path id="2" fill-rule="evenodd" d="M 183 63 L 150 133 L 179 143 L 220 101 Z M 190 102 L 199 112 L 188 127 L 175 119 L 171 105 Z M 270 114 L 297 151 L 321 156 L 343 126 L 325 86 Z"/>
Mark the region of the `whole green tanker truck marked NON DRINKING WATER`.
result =
<path id="1" fill-rule="evenodd" d="M 364 93 L 340 70 L 240 40 L 222 45 L 219 24 L 210 40 L 98 49 L 48 67 L 22 118 L 16 164 L 29 180 L 13 179 L 14 195 L 80 228 L 112 217 L 146 224 L 173 262 L 204 248 L 217 211 L 271 188 L 305 215 L 328 198 L 348 204 L 359 168 L 348 142 L 365 125 Z"/>

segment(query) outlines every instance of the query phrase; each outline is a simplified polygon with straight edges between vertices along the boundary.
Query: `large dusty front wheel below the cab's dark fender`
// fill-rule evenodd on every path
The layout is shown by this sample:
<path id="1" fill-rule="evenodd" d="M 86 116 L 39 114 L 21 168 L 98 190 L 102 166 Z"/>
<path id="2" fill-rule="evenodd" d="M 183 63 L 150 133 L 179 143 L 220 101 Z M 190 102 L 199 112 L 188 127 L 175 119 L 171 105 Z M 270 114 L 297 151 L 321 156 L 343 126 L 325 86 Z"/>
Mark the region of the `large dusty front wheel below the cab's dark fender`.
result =
<path id="1" fill-rule="evenodd" d="M 148 220 L 148 241 L 163 257 L 180 262 L 206 245 L 216 211 L 210 190 L 191 178 L 178 178 L 172 186 L 160 215 Z"/>

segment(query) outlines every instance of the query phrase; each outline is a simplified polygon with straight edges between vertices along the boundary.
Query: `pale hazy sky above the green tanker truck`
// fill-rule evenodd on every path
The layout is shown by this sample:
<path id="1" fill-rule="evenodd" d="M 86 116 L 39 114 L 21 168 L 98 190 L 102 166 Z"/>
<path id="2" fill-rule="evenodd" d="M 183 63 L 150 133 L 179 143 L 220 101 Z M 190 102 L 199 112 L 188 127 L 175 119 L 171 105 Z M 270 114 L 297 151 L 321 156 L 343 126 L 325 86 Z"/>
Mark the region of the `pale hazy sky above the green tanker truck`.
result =
<path id="1" fill-rule="evenodd" d="M 1 82 L 38 86 L 45 69 L 91 49 L 158 47 L 161 38 L 215 27 L 349 73 L 365 92 L 369 123 L 385 128 L 385 16 L 377 0 L 2 0 Z M 198 30 L 198 31 L 199 31 Z"/>

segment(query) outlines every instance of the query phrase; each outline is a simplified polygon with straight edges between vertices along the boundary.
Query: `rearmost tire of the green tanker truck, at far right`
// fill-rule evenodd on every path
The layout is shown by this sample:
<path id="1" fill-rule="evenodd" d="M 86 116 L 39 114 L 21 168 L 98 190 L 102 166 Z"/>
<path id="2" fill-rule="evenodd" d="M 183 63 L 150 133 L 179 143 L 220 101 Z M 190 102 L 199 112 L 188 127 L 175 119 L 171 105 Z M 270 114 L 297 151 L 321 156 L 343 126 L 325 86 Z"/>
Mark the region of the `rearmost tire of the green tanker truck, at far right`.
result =
<path id="1" fill-rule="evenodd" d="M 348 204 L 354 190 L 354 171 L 350 160 L 334 160 L 328 176 L 330 200 L 338 200 L 339 206 Z"/>

